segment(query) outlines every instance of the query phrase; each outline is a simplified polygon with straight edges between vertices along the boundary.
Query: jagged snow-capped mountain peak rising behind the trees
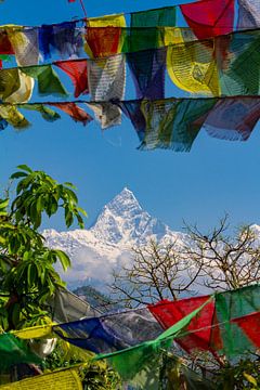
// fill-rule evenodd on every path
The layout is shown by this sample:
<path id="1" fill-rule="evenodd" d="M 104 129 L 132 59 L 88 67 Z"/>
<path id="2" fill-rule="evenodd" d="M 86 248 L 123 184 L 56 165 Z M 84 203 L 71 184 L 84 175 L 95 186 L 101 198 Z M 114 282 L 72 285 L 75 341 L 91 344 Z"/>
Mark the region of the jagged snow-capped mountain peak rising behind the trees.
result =
<path id="1" fill-rule="evenodd" d="M 70 286 L 90 280 L 108 281 L 113 268 L 131 261 L 131 248 L 145 245 L 151 238 L 159 243 L 185 239 L 183 233 L 172 232 L 150 216 L 128 188 L 103 208 L 91 229 L 46 230 L 43 235 L 50 247 L 62 249 L 70 257 L 73 269 L 63 274 Z"/>

